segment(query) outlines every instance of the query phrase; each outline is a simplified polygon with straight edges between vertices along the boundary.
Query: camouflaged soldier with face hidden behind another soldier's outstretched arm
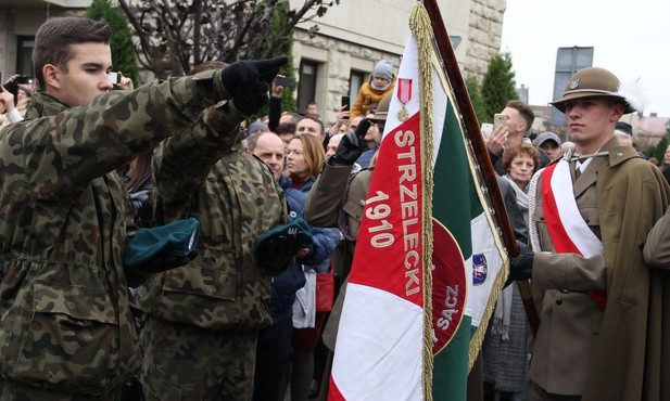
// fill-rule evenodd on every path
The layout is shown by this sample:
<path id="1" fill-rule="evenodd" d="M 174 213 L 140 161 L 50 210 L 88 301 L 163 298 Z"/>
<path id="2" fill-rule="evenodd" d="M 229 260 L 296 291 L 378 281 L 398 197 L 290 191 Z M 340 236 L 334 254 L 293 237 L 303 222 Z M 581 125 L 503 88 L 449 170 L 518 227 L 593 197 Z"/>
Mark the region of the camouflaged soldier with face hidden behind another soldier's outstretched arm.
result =
<path id="1" fill-rule="evenodd" d="M 271 171 L 226 134 L 242 119 L 214 126 L 220 134 L 175 135 L 154 154 L 156 221 L 195 217 L 201 228 L 198 258 L 138 288 L 148 400 L 252 398 L 257 331 L 271 323 L 267 275 L 277 273 L 256 263 L 253 242 L 288 216 Z"/>

